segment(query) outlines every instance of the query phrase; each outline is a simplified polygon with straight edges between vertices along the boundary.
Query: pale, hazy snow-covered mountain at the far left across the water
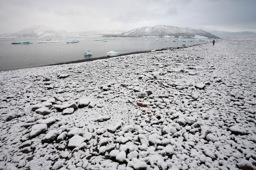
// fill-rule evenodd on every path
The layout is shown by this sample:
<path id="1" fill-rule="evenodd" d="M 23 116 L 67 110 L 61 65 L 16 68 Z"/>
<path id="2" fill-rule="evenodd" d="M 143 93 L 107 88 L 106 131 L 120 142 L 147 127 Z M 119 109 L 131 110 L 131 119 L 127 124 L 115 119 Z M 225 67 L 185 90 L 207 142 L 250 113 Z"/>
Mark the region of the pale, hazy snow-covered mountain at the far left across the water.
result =
<path id="1" fill-rule="evenodd" d="M 54 29 L 44 25 L 33 25 L 29 28 L 22 29 L 16 33 L 2 34 L 0 37 L 62 37 L 62 36 L 73 36 L 64 30 Z"/>

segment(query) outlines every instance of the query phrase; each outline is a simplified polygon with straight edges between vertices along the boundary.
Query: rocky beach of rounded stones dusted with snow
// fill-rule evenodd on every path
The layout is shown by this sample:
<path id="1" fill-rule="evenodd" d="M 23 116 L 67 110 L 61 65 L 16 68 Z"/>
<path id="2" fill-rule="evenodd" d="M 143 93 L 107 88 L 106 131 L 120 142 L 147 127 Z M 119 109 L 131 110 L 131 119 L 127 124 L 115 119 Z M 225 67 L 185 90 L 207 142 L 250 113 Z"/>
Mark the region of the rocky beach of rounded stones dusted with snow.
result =
<path id="1" fill-rule="evenodd" d="M 255 170 L 255 44 L 0 72 L 0 169 Z"/>

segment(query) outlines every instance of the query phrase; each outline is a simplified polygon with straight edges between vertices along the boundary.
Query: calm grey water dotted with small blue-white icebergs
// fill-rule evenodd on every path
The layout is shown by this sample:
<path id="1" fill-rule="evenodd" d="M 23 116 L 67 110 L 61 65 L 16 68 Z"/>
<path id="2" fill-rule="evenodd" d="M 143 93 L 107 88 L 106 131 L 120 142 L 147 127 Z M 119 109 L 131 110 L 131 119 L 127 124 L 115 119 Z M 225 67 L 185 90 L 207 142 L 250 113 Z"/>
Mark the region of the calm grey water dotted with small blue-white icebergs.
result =
<path id="1" fill-rule="evenodd" d="M 0 70 L 16 70 L 22 68 L 31 68 L 36 66 L 46 66 L 50 64 L 67 63 L 83 59 L 98 58 L 106 56 L 109 51 L 124 53 L 133 53 L 139 51 L 151 51 L 153 49 L 162 49 L 166 47 L 192 46 L 198 43 L 207 43 L 207 41 L 182 42 L 172 39 L 157 38 L 124 38 L 117 40 L 90 41 L 98 38 L 78 38 L 84 39 L 79 43 L 66 43 L 70 38 L 54 38 L 50 41 L 60 41 L 60 43 L 36 43 L 45 41 L 45 39 L 0 39 Z M 11 44 L 13 42 L 29 41 L 32 44 Z M 167 41 L 167 42 L 165 42 Z M 90 50 L 92 56 L 85 57 L 84 51 Z"/>

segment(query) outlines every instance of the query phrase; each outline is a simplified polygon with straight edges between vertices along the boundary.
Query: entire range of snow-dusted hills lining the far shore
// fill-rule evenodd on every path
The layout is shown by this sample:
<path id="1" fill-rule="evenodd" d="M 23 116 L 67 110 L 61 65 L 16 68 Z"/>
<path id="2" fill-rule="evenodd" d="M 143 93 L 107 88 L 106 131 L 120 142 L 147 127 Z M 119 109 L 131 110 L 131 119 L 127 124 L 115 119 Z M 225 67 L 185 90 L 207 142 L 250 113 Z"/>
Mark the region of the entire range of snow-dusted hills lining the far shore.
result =
<path id="1" fill-rule="evenodd" d="M 219 39 L 202 29 L 181 28 L 165 25 L 156 25 L 154 27 L 141 27 L 125 30 L 95 30 L 84 32 L 68 33 L 64 30 L 54 29 L 44 25 L 33 25 L 29 28 L 22 29 L 16 33 L 6 33 L 0 37 L 16 37 L 16 38 L 36 38 L 36 37 L 78 37 L 78 36 L 105 36 L 105 37 L 173 37 L 173 38 L 210 38 Z"/>

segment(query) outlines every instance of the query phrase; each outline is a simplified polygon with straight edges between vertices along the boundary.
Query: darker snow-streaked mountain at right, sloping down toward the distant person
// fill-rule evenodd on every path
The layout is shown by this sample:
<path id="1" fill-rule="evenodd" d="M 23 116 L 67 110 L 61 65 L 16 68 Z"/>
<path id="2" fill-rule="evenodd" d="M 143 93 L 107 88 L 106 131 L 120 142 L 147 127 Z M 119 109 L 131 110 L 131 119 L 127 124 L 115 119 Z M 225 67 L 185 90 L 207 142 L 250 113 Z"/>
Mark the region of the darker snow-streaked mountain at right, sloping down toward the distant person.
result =
<path id="1" fill-rule="evenodd" d="M 181 28 L 165 25 L 154 27 L 141 27 L 126 33 L 118 34 L 119 37 L 173 37 L 173 38 L 211 38 L 220 39 L 202 29 Z"/>

